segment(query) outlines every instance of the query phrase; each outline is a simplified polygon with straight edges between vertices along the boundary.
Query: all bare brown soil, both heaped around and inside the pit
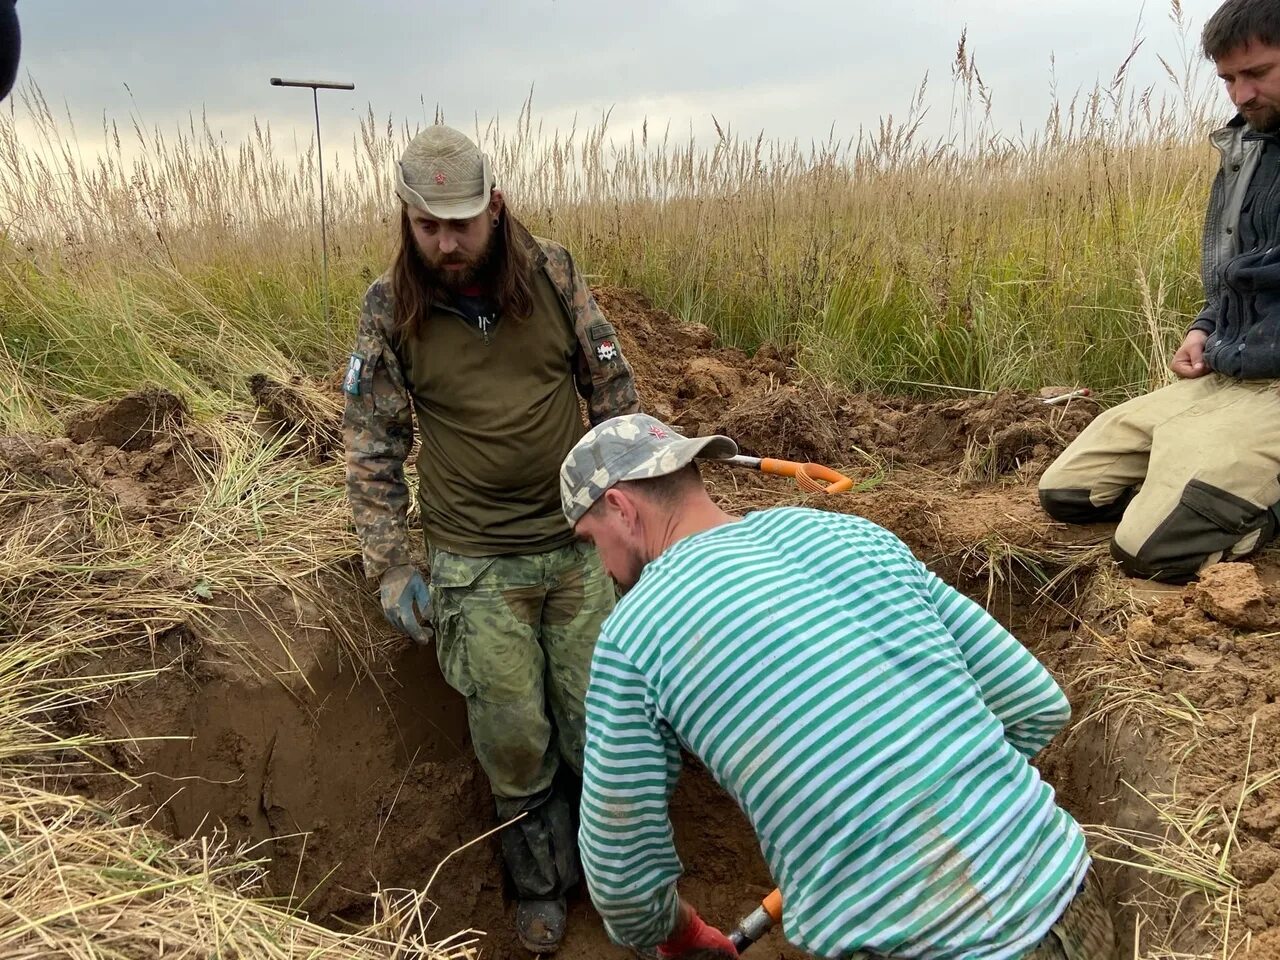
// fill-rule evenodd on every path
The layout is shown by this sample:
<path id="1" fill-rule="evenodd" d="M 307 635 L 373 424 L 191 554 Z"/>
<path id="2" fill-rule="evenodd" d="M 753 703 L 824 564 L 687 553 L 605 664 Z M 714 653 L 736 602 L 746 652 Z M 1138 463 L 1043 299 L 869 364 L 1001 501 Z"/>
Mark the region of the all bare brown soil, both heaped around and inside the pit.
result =
<path id="1" fill-rule="evenodd" d="M 635 294 L 605 289 L 599 300 L 621 332 L 646 410 L 689 434 L 727 433 L 746 453 L 819 461 L 859 483 L 851 494 L 806 498 L 788 480 L 716 466 L 707 475 L 721 502 L 739 511 L 805 502 L 884 525 L 987 603 L 1055 671 L 1087 722 L 1061 737 L 1042 767 L 1082 819 L 1158 823 L 1125 782 L 1238 812 L 1211 841 L 1226 851 L 1222 870 L 1240 890 L 1243 923 L 1260 934 L 1257 955 L 1277 947 L 1267 931 L 1280 929 L 1280 787 L 1242 791 L 1251 776 L 1280 768 L 1274 570 L 1229 564 L 1185 590 L 1134 591 L 1110 572 L 1105 529 L 1048 522 L 1034 480 L 1094 416 L 1088 399 L 1047 406 L 1012 393 L 849 394 L 803 376 L 777 351 L 749 357 L 717 348 L 704 328 Z M 265 378 L 250 387 L 264 436 L 294 430 L 287 456 L 339 456 L 337 403 Z M 105 492 L 160 541 L 184 522 L 197 483 L 192 458 L 218 456 L 182 402 L 157 392 L 83 411 L 67 434 L 0 438 L 0 476 Z M 24 509 L 26 522 L 38 507 Z M 0 516 L 0 535 L 13 522 Z M 283 589 L 252 602 L 220 598 L 221 612 L 200 626 L 102 652 L 99 667 L 168 668 L 122 686 L 78 722 L 138 739 L 110 759 L 136 778 L 131 800 L 154 823 L 180 836 L 225 827 L 256 844 L 273 859 L 270 892 L 293 896 L 315 918 L 366 922 L 371 891 L 421 887 L 434 876 L 439 937 L 486 931 L 483 956 L 522 956 L 508 934 L 511 905 L 493 842 L 453 852 L 493 826 L 462 701 L 433 650 L 390 636 L 372 591 L 357 585 L 357 564 L 353 553 L 333 571 L 323 607 Z M 355 668 L 335 639 L 335 616 L 389 653 Z M 1188 707 L 1179 713 L 1170 703 Z M 77 783 L 93 792 L 114 786 L 101 777 Z M 772 886 L 750 829 L 692 767 L 673 819 L 684 892 L 709 920 L 731 925 Z M 1149 895 L 1133 870 L 1108 867 L 1106 876 L 1117 905 Z M 1162 909 L 1157 902 L 1149 915 L 1162 922 Z M 1204 913 L 1201 904 L 1183 909 Z M 1125 931 L 1132 918 L 1117 906 Z M 1194 920 L 1184 925 L 1179 946 L 1192 950 L 1206 934 Z M 803 956 L 776 934 L 751 955 Z M 579 899 L 561 956 L 627 954 L 607 942 Z"/>

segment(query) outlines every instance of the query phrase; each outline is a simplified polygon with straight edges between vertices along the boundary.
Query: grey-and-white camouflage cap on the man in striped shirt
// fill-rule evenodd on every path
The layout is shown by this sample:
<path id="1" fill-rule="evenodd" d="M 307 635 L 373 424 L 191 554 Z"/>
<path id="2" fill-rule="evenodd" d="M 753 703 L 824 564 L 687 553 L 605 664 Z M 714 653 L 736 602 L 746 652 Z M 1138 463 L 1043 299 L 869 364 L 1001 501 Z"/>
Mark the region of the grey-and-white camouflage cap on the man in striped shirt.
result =
<path id="1" fill-rule="evenodd" d="M 561 506 L 573 526 L 614 484 L 675 474 L 695 457 L 736 456 L 737 444 L 727 436 L 686 438 L 648 413 L 613 417 L 591 428 L 564 458 Z"/>

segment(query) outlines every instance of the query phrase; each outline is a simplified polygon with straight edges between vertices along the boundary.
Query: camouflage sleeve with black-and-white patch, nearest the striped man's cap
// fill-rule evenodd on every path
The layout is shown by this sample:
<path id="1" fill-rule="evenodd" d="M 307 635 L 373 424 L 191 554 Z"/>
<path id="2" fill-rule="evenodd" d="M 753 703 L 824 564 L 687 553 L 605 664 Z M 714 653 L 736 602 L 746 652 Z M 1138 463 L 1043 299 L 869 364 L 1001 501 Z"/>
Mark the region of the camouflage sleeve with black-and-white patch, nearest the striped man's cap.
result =
<path id="1" fill-rule="evenodd" d="M 568 251 L 558 243 L 545 243 L 544 250 L 547 269 L 568 302 L 577 332 L 575 374 L 591 425 L 623 413 L 639 413 L 635 378 L 622 356 L 617 330 L 600 311 Z"/>

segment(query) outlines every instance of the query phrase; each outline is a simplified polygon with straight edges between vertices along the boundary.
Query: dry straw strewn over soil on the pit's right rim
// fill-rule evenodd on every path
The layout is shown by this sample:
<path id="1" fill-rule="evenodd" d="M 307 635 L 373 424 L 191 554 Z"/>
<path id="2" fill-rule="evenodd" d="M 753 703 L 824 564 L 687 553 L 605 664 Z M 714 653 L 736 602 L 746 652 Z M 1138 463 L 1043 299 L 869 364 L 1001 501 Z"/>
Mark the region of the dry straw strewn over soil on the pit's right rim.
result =
<path id="1" fill-rule="evenodd" d="M 1213 750 L 1213 731 L 1225 717 L 1165 691 L 1171 669 L 1189 668 L 1083 621 L 1080 634 L 1082 666 L 1070 684 L 1088 705 L 1064 746 L 1100 742 L 1101 763 L 1123 763 L 1130 778 L 1120 781 L 1116 796 L 1092 797 L 1110 812 L 1108 822 L 1085 827 L 1094 859 L 1119 868 L 1117 882 L 1129 887 L 1124 906 L 1134 940 L 1123 946 L 1138 960 L 1243 956 L 1251 934 L 1231 855 L 1245 803 L 1280 780 L 1280 771 L 1256 769 L 1257 717 L 1239 773 L 1215 776 L 1213 785 L 1201 776 L 1192 790 L 1183 782 L 1188 763 Z"/>

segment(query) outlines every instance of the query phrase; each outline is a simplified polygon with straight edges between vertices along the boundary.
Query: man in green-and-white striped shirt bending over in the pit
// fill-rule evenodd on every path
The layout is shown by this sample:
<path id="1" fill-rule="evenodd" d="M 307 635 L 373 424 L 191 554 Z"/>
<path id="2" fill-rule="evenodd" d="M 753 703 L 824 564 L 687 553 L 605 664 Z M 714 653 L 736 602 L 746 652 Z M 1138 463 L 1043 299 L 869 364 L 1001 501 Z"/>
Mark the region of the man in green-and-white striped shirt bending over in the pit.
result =
<path id="1" fill-rule="evenodd" d="M 737 452 L 645 415 L 561 468 L 564 513 L 626 590 L 591 662 L 580 845 L 611 937 L 732 945 L 676 891 L 681 750 L 746 813 L 783 931 L 822 957 L 1100 960 L 1084 837 L 1029 760 L 1070 708 L 980 607 L 859 517 L 708 497 Z"/>

